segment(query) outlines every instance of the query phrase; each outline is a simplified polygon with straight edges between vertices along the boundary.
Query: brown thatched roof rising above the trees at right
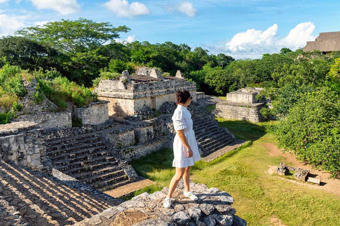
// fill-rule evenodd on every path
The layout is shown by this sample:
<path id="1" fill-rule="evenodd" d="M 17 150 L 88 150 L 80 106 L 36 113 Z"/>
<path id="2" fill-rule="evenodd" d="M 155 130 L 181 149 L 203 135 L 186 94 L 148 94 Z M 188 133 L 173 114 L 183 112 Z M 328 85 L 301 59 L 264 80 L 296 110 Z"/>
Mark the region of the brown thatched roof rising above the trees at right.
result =
<path id="1" fill-rule="evenodd" d="M 315 41 L 307 42 L 303 48 L 304 51 L 313 51 L 314 49 L 322 52 L 340 51 L 340 32 L 320 33 Z"/>

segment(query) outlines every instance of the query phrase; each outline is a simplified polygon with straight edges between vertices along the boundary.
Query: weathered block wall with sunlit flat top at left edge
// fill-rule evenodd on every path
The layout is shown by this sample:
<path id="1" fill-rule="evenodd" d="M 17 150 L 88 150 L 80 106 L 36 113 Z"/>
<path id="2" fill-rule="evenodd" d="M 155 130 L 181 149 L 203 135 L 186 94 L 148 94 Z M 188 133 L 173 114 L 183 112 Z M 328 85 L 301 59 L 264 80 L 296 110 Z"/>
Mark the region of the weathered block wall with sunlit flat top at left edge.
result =
<path id="1" fill-rule="evenodd" d="M 27 166 L 36 171 L 52 172 L 46 153 L 43 129 L 33 122 L 13 122 L 0 126 L 0 156 L 5 162 Z"/>

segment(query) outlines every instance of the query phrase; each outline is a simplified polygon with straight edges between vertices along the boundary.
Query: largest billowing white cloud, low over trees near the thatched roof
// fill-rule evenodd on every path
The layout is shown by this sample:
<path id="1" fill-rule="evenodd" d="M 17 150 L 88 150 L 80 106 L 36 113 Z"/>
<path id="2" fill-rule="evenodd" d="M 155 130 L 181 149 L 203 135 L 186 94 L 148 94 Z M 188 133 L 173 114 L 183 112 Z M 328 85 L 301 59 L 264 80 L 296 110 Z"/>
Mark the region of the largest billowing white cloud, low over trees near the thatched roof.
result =
<path id="1" fill-rule="evenodd" d="M 283 47 L 296 50 L 304 47 L 307 41 L 313 41 L 315 25 L 312 22 L 297 24 L 285 37 L 278 37 L 277 24 L 267 30 L 248 29 L 238 33 L 224 45 L 207 46 L 212 52 L 223 52 L 234 58 L 261 58 L 265 53 L 279 53 Z"/>

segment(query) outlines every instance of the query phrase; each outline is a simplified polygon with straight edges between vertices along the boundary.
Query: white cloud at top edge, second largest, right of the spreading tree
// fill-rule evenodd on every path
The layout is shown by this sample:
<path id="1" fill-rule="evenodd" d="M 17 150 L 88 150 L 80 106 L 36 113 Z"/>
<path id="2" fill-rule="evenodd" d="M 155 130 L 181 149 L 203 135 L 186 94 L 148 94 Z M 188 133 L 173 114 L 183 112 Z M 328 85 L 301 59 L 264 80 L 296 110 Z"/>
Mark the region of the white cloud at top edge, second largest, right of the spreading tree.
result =
<path id="1" fill-rule="evenodd" d="M 140 2 L 132 2 L 129 4 L 126 0 L 109 0 L 103 5 L 118 17 L 134 17 L 150 14 L 148 7 Z"/>

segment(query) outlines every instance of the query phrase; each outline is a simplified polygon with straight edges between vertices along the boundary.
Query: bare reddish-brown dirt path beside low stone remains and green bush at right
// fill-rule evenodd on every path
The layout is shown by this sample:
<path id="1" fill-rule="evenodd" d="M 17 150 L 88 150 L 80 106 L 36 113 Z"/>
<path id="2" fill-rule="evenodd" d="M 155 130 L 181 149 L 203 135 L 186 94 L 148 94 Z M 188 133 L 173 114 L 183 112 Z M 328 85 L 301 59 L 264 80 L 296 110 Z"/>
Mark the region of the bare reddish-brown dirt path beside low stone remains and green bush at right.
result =
<path id="1" fill-rule="evenodd" d="M 285 180 L 290 181 L 290 182 L 294 182 L 294 183 L 296 182 L 297 184 L 306 185 L 306 186 L 311 187 L 311 188 L 320 189 L 320 190 L 330 192 L 330 193 L 333 193 L 333 194 L 340 196 L 340 180 L 330 178 L 330 173 L 323 172 L 322 170 L 316 170 L 316 169 L 312 168 L 312 166 L 308 166 L 307 163 L 305 163 L 305 162 L 297 161 L 295 159 L 294 155 L 291 155 L 288 152 L 283 153 L 273 143 L 265 143 L 263 145 L 266 148 L 268 148 L 270 156 L 282 156 L 282 157 L 285 158 L 285 160 L 283 162 L 285 162 L 285 161 L 286 162 L 292 162 L 295 167 L 309 169 L 310 174 L 317 175 L 315 178 L 318 178 L 318 179 L 321 180 L 322 186 L 312 185 L 312 184 L 307 184 L 307 183 L 300 183 L 300 182 L 288 180 L 288 179 L 285 179 Z M 268 173 L 275 172 L 275 167 L 270 166 L 267 172 Z"/>

